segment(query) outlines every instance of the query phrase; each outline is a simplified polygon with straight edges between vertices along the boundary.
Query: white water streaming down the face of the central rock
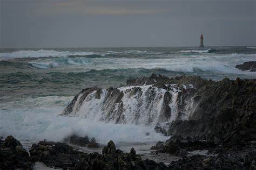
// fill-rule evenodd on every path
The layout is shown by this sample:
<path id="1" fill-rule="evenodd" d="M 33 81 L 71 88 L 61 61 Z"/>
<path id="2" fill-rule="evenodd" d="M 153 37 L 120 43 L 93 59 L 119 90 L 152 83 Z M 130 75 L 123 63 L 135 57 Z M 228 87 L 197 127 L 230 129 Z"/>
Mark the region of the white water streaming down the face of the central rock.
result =
<path id="1" fill-rule="evenodd" d="M 169 84 L 166 86 L 169 86 Z M 188 86 L 183 85 L 183 87 L 185 89 L 193 88 L 191 84 Z M 172 94 L 172 102 L 169 104 L 171 117 L 166 117 L 164 112 L 164 95 L 167 91 L 152 87 L 152 85 L 118 88 L 124 94 L 121 103 L 109 104 L 114 101 L 114 98 L 106 98 L 108 95 L 105 89 L 102 90 L 100 99 L 95 97 L 96 91 L 87 95 L 86 98 L 83 98 L 84 94 L 81 93 L 78 95 L 76 103 L 72 107 L 72 112 L 68 116 L 113 124 L 135 124 L 150 127 L 154 127 L 159 123 L 164 125 L 167 122 L 176 120 L 178 115 L 177 97 L 180 90 L 178 90 L 176 84 L 172 84 L 171 88 L 172 90 L 169 91 Z M 139 92 L 133 93 L 134 89 L 139 90 Z M 83 100 L 81 101 L 82 98 Z M 181 119 L 187 119 L 190 116 L 193 101 L 188 101 L 186 105 L 187 108 L 183 110 L 184 116 Z"/>

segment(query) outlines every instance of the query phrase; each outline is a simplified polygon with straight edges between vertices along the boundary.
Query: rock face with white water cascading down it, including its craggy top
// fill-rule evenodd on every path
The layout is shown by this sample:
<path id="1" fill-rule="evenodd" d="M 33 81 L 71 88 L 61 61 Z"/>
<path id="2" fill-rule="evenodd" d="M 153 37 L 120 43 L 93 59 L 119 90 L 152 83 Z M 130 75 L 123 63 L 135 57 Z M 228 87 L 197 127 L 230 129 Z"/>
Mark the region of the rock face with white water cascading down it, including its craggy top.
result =
<path id="1" fill-rule="evenodd" d="M 173 83 L 172 79 L 152 74 L 127 80 L 125 87 L 86 88 L 73 98 L 62 115 L 143 125 L 188 119 L 196 104 L 193 85 Z"/>

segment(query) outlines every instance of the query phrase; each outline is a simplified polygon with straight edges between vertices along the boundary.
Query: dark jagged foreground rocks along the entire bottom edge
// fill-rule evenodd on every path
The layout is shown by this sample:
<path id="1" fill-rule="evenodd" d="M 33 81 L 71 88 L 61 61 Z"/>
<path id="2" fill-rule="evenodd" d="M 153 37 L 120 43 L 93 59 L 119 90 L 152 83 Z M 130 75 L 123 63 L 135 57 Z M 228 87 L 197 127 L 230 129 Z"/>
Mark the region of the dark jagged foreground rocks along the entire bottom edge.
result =
<path id="1" fill-rule="evenodd" d="M 102 153 L 84 153 L 65 143 L 39 141 L 26 152 L 12 136 L 1 140 L 1 169 L 33 169 L 35 162 L 62 169 L 255 169 L 255 143 L 239 149 L 216 145 L 210 141 L 174 136 L 156 151 L 177 155 L 179 160 L 169 165 L 153 160 L 143 160 L 134 148 L 124 153 L 109 141 Z M 188 154 L 188 151 L 208 150 L 208 155 Z"/>

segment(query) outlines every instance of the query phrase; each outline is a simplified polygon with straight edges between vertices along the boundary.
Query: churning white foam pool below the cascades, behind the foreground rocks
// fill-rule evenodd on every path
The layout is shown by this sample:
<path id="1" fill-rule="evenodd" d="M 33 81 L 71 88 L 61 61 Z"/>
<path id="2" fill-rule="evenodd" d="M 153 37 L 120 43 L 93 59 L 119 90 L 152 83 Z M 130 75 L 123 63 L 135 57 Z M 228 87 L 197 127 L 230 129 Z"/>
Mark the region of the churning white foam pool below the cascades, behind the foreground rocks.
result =
<path id="1" fill-rule="evenodd" d="M 47 96 L 19 98 L 15 102 L 0 103 L 0 136 L 15 136 L 19 140 L 43 139 L 61 141 L 76 133 L 95 137 L 101 144 L 153 143 L 167 140 L 151 126 L 113 124 L 80 117 L 58 116 L 73 97 Z M 5 97 L 6 100 L 6 97 Z M 25 106 L 25 107 L 24 107 Z M 146 133 L 150 133 L 149 136 Z"/>

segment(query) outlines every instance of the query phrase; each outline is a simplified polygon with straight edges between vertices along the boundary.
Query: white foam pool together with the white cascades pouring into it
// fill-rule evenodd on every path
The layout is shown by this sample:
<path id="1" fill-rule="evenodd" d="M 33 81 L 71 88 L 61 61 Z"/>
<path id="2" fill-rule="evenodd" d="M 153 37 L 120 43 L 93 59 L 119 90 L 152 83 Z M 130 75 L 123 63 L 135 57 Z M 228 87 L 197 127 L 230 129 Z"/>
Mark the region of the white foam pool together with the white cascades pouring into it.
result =
<path id="1" fill-rule="evenodd" d="M 172 85 L 172 117 L 170 120 L 163 119 L 161 109 L 166 90 L 152 88 L 156 93 L 154 98 L 148 98 L 146 93 L 151 86 L 141 86 L 142 94 L 136 93 L 130 96 L 125 93 L 131 87 L 120 87 L 123 91 L 125 120 L 116 124 L 117 113 L 107 115 L 103 112 L 103 101 L 106 90 L 103 90 L 101 98 L 95 98 L 95 92 L 88 95 L 82 107 L 75 104 L 72 117 L 59 116 L 73 97 L 46 96 L 38 98 L 0 98 L 11 102 L 0 104 L 0 136 L 13 135 L 18 139 L 38 141 L 43 139 L 61 141 L 71 134 L 79 136 L 95 137 L 99 143 L 106 144 L 109 140 L 115 143 L 153 143 L 159 140 L 167 140 L 160 133 L 154 131 L 154 126 L 160 122 L 173 121 L 176 119 L 178 90 Z M 187 86 L 186 88 L 192 88 Z M 151 101 L 149 101 L 151 100 Z M 78 96 L 78 101 L 79 96 Z M 24 107 L 25 106 L 25 107 Z M 188 108 L 188 110 L 190 110 Z M 139 114 L 139 118 L 138 118 Z M 189 113 L 188 113 L 189 114 Z M 109 121 L 106 117 L 111 117 Z M 138 119 L 137 119 L 138 118 Z M 150 120 L 150 122 L 149 122 Z M 147 135 L 149 133 L 150 135 Z"/>

